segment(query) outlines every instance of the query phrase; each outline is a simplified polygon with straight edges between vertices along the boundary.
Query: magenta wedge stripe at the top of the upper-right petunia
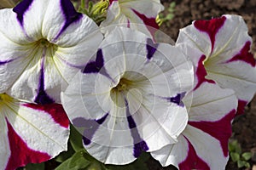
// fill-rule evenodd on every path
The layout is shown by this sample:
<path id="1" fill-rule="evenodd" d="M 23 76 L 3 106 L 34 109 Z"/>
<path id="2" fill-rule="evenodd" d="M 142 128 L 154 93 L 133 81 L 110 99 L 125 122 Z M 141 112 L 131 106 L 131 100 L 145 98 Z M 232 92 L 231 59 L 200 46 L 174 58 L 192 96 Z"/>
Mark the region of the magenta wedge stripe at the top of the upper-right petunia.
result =
<path id="1" fill-rule="evenodd" d="M 224 26 L 224 21 L 226 17 L 222 16 L 221 18 L 212 19 L 212 20 L 195 20 L 194 26 L 200 31 L 207 32 L 208 36 L 212 42 L 212 50 L 214 48 L 215 37 L 218 33 L 218 30 Z"/>

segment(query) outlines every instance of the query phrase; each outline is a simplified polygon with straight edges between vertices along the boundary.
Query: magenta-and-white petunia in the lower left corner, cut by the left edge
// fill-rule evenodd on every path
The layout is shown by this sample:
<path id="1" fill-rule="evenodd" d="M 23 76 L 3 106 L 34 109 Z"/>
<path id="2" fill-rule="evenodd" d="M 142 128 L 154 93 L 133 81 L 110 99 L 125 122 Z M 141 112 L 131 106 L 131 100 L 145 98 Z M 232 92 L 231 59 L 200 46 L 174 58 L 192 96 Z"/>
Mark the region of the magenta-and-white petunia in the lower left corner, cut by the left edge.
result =
<path id="1" fill-rule="evenodd" d="M 35 105 L 0 94 L 0 167 L 13 170 L 67 150 L 69 121 L 59 104 Z"/>

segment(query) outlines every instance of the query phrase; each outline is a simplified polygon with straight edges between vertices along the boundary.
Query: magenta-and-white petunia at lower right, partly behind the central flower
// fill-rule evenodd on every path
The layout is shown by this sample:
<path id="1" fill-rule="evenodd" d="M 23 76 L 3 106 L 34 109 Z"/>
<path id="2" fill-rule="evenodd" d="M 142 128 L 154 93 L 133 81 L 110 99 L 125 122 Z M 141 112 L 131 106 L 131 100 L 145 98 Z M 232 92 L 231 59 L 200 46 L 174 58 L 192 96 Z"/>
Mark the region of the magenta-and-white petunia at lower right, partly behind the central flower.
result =
<path id="1" fill-rule="evenodd" d="M 225 169 L 237 107 L 235 92 L 219 88 L 214 82 L 202 82 L 183 98 L 183 103 L 188 107 L 189 122 L 178 142 L 151 155 L 164 167 L 172 164 L 181 170 Z"/>

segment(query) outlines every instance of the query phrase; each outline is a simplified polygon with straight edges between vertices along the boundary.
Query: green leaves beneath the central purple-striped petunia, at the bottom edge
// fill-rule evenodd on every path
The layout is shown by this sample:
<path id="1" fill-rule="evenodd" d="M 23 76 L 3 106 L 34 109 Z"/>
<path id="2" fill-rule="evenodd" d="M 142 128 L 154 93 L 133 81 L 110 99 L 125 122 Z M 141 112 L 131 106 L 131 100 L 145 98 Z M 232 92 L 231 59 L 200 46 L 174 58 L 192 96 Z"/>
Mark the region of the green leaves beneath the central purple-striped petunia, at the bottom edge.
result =
<path id="1" fill-rule="evenodd" d="M 62 152 L 55 158 L 55 161 L 61 162 L 55 170 L 147 170 L 146 161 L 149 154 L 144 152 L 136 161 L 124 166 L 105 165 L 97 161 L 84 149 L 82 144 L 82 135 L 71 125 L 68 150 Z"/>

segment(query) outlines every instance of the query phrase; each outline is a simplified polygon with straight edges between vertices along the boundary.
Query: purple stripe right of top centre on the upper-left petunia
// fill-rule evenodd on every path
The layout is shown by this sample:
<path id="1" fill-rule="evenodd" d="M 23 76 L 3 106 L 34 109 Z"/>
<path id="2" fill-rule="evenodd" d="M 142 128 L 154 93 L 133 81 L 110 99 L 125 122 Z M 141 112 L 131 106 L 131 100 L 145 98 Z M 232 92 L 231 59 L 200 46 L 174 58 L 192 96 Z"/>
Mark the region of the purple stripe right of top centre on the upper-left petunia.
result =
<path id="1" fill-rule="evenodd" d="M 68 26 L 79 21 L 83 17 L 83 14 L 76 11 L 76 9 L 73 7 L 73 3 L 71 3 L 70 0 L 61 0 L 61 9 L 65 17 L 65 24 L 62 26 L 61 31 L 58 33 L 55 39 L 60 37 L 61 33 L 65 31 Z"/>

